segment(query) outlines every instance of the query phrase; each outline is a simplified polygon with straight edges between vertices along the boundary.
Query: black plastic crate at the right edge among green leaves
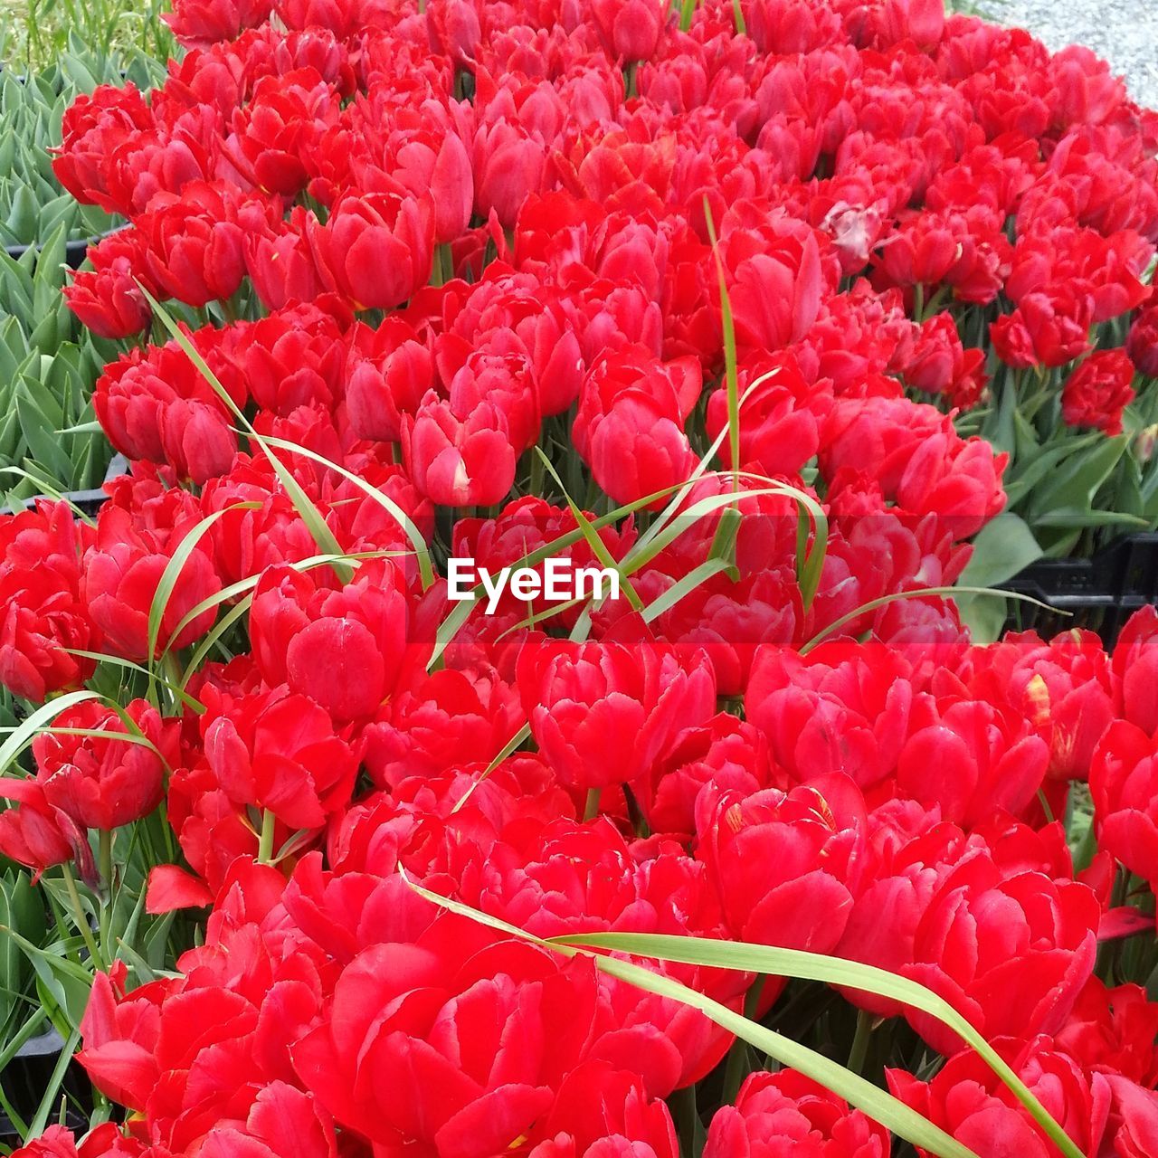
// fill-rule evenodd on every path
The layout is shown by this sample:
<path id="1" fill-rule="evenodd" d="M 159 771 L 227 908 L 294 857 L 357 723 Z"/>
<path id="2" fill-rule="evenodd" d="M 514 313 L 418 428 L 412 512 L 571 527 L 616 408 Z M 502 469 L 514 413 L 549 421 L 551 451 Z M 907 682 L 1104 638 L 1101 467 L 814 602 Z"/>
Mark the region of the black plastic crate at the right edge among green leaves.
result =
<path id="1" fill-rule="evenodd" d="M 1048 638 L 1084 628 L 1113 647 L 1135 611 L 1158 603 L 1158 533 L 1127 535 L 1090 559 L 1042 559 L 1002 586 L 1047 604 L 1010 600 L 1007 630 Z"/>

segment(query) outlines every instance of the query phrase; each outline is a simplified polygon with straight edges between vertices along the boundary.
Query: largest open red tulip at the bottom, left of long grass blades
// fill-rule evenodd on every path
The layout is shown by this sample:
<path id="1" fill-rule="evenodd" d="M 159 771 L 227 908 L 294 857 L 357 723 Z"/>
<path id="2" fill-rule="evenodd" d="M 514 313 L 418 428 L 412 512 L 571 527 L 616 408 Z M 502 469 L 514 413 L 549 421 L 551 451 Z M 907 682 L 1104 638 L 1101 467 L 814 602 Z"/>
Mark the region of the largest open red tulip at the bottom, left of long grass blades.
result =
<path id="1" fill-rule="evenodd" d="M 365 950 L 324 1025 L 293 1048 L 322 1105 L 376 1145 L 468 1158 L 521 1145 L 595 1035 L 589 963 L 479 941 L 439 919 L 417 944 Z"/>

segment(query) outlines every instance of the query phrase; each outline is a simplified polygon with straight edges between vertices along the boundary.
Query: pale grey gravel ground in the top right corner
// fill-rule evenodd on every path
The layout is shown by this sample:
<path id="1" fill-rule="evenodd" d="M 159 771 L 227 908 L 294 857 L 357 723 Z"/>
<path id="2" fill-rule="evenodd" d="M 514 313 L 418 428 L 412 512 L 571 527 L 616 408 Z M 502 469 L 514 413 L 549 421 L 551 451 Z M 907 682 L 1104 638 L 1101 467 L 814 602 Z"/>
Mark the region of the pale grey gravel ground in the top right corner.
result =
<path id="1" fill-rule="evenodd" d="M 1158 0 L 990 0 L 987 15 L 1027 28 L 1056 52 L 1084 44 L 1126 78 L 1139 104 L 1158 109 Z"/>

